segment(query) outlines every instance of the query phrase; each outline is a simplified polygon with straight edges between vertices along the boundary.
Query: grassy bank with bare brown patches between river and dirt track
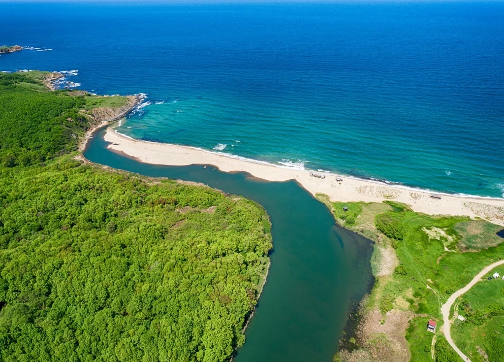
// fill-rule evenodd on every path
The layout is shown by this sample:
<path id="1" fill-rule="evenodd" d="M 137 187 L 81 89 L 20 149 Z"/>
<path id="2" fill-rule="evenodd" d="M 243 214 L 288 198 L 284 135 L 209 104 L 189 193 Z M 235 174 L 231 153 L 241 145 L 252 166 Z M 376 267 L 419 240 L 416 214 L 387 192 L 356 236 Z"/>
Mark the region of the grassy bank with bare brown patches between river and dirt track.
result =
<path id="1" fill-rule="evenodd" d="M 465 217 L 432 217 L 390 201 L 319 199 L 337 222 L 376 242 L 372 263 L 377 280 L 363 310 L 365 328 L 357 336 L 361 356 L 357 350 L 340 353 L 346 358 L 342 360 L 431 361 L 434 354 L 438 361 L 458 361 L 445 350 L 446 341 L 436 337 L 438 343 L 432 342 L 427 321 L 437 321 L 439 330 L 440 307 L 448 297 L 484 266 L 504 257 L 504 239 L 495 234 L 502 227 Z M 343 206 L 349 211 L 343 212 Z M 492 303 L 504 308 L 501 297 Z"/>

